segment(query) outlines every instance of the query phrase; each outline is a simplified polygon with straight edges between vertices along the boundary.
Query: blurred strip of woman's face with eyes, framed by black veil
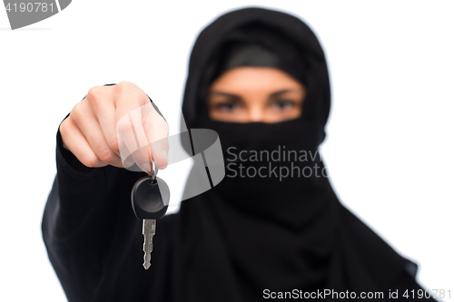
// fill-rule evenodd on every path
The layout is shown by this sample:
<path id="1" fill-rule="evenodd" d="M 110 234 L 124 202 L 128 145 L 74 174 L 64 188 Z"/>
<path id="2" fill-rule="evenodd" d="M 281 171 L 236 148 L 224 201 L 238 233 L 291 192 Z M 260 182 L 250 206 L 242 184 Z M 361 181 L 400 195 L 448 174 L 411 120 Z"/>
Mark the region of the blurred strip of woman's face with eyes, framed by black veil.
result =
<path id="1" fill-rule="evenodd" d="M 211 85 L 210 118 L 221 122 L 283 122 L 301 115 L 306 88 L 272 67 L 237 67 Z"/>

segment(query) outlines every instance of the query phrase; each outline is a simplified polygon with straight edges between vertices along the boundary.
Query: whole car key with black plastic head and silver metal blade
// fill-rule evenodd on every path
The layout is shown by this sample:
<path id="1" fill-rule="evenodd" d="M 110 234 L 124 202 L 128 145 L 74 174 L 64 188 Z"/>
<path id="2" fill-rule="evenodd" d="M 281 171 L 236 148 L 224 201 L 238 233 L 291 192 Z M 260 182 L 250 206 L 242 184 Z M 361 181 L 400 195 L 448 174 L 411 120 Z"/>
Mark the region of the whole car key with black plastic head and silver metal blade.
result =
<path id="1" fill-rule="evenodd" d="M 153 160 L 152 165 L 152 173 L 137 180 L 131 192 L 134 214 L 138 219 L 143 219 L 143 268 L 145 269 L 151 266 L 156 219 L 163 218 L 170 200 L 169 187 L 164 180 L 156 177 Z"/>

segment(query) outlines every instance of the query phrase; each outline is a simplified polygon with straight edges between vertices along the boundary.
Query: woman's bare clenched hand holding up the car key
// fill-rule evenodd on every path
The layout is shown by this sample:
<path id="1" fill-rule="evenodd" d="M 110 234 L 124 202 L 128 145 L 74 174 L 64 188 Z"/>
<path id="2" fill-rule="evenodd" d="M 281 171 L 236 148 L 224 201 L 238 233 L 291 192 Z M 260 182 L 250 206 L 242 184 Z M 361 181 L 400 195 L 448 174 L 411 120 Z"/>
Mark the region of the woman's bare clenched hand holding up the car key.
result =
<path id="1" fill-rule="evenodd" d="M 128 82 L 91 88 L 60 125 L 64 148 L 85 166 L 135 162 L 146 172 L 152 157 L 158 169 L 167 167 L 168 129 L 143 90 Z"/>

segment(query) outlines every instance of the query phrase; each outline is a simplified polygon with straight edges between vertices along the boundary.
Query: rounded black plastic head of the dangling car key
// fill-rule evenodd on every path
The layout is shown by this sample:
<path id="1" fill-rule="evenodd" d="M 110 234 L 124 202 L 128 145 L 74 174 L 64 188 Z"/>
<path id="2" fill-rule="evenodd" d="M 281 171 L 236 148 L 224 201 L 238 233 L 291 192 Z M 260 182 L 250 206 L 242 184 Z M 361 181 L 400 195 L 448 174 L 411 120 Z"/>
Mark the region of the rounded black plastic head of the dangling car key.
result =
<path id="1" fill-rule="evenodd" d="M 170 190 L 159 177 L 145 176 L 133 186 L 131 202 L 139 219 L 162 219 L 167 211 Z"/>

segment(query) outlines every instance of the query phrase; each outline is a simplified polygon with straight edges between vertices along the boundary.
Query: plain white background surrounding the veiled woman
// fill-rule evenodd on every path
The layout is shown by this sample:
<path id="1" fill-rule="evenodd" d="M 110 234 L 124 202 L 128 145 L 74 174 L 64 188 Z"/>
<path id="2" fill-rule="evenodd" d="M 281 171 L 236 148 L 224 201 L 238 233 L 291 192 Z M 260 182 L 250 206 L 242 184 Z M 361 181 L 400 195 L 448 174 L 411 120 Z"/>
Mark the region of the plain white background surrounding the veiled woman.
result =
<path id="1" fill-rule="evenodd" d="M 76 0 L 16 31 L 0 9 L 1 301 L 65 300 L 40 227 L 55 132 L 74 104 L 94 85 L 133 82 L 177 132 L 195 37 L 248 5 L 317 34 L 332 88 L 322 154 L 339 198 L 453 300 L 453 2 Z M 174 196 L 189 167 L 163 174 Z"/>

